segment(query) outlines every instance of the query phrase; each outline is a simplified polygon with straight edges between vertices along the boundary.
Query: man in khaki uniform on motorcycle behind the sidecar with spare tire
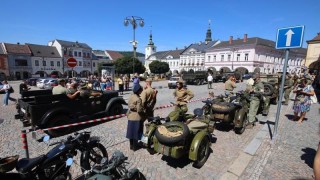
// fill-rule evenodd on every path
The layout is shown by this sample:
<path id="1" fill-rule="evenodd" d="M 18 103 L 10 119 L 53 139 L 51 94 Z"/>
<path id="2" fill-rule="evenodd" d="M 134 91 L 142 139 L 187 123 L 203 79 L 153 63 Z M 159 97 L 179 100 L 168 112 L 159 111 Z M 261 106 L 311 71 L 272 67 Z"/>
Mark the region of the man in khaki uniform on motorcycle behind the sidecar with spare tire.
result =
<path id="1" fill-rule="evenodd" d="M 179 80 L 177 82 L 177 89 L 173 93 L 176 100 L 176 107 L 173 112 L 169 114 L 170 121 L 177 121 L 179 120 L 179 116 L 183 116 L 188 112 L 187 103 L 190 99 L 194 97 L 194 94 L 183 87 L 183 81 Z"/>

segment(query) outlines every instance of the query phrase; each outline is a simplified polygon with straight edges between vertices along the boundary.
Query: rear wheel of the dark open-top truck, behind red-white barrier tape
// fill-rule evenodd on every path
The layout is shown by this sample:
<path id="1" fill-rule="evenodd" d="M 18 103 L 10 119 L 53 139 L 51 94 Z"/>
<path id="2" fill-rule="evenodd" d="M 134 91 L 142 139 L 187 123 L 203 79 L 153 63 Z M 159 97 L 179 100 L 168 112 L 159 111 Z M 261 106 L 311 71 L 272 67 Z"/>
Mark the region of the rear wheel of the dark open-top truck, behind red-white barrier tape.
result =
<path id="1" fill-rule="evenodd" d="M 65 114 L 58 114 L 55 117 L 53 117 L 51 120 L 48 121 L 48 126 L 46 128 L 70 124 L 68 122 L 69 119 L 70 119 L 70 117 L 68 117 Z M 58 136 L 63 136 L 65 134 L 69 134 L 70 130 L 71 130 L 71 127 L 65 127 L 65 128 L 61 128 L 61 129 L 48 130 L 47 133 L 51 137 L 58 137 Z"/>

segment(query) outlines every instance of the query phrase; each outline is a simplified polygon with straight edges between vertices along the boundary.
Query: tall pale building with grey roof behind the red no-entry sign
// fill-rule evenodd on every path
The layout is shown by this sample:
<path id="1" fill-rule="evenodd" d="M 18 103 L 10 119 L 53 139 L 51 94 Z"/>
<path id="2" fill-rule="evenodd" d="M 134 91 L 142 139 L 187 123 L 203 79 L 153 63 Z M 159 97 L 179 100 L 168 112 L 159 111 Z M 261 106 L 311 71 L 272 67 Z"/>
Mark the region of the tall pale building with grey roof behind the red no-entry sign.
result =
<path id="1" fill-rule="evenodd" d="M 87 77 L 90 73 L 93 73 L 92 66 L 92 48 L 85 43 L 53 40 L 48 43 L 49 46 L 57 48 L 59 54 L 64 57 L 63 72 L 67 76 L 72 76 L 72 70 L 74 76 Z M 68 58 L 73 57 L 77 60 L 77 66 L 70 68 L 67 65 Z"/>

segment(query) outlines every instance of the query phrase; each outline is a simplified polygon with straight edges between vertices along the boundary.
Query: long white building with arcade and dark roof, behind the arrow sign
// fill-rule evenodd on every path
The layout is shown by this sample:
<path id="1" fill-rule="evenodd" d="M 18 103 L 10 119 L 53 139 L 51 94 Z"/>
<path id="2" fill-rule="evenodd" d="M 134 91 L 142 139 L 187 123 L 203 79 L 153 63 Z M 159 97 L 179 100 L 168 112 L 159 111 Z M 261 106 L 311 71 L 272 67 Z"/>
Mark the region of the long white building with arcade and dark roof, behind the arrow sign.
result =
<path id="1" fill-rule="evenodd" d="M 299 72 L 304 64 L 306 49 L 297 48 L 290 51 L 288 72 Z M 220 72 L 241 71 L 276 73 L 282 71 L 285 59 L 284 50 L 275 49 L 275 42 L 253 37 L 247 34 L 243 39 L 229 41 L 207 49 L 205 68 Z"/>

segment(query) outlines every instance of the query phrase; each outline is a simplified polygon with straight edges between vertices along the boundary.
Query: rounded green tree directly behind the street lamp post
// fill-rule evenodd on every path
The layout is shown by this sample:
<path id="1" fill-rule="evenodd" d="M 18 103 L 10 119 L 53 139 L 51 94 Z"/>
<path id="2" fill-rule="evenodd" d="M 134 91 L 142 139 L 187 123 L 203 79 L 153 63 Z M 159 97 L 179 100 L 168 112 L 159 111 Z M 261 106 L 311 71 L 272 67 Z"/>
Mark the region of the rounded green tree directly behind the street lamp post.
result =
<path id="1" fill-rule="evenodd" d="M 133 72 L 133 63 L 135 72 Z M 138 59 L 133 60 L 133 58 L 129 56 L 117 59 L 114 64 L 118 74 L 142 74 L 146 71 L 146 68 Z"/>

